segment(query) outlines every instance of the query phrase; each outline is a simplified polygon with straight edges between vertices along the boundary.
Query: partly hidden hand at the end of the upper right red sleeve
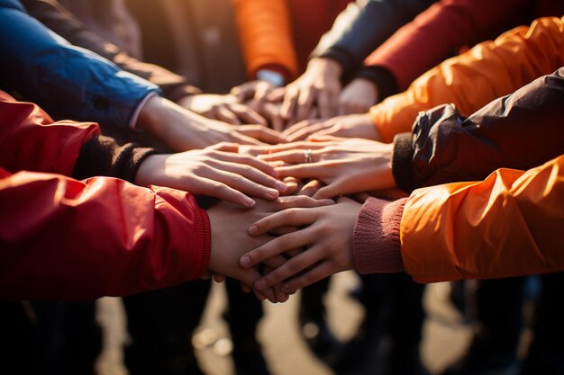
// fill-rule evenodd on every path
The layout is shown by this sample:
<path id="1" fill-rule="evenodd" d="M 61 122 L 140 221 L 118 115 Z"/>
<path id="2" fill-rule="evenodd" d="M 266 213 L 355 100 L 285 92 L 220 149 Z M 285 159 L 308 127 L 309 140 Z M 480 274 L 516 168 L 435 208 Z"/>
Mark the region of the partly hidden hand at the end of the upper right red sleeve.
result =
<path id="1" fill-rule="evenodd" d="M 355 78 L 339 95 L 339 114 L 366 113 L 378 103 L 378 87 L 365 78 Z"/>

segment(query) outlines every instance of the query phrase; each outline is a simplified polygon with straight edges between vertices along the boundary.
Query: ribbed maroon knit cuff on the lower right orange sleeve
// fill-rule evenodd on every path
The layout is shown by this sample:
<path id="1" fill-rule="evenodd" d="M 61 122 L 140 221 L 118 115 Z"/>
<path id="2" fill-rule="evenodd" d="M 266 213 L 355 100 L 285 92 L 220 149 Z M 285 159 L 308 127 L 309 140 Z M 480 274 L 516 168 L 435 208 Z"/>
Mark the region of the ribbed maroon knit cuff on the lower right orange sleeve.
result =
<path id="1" fill-rule="evenodd" d="M 400 224 L 407 198 L 368 198 L 359 212 L 352 237 L 352 261 L 360 273 L 404 271 Z"/>

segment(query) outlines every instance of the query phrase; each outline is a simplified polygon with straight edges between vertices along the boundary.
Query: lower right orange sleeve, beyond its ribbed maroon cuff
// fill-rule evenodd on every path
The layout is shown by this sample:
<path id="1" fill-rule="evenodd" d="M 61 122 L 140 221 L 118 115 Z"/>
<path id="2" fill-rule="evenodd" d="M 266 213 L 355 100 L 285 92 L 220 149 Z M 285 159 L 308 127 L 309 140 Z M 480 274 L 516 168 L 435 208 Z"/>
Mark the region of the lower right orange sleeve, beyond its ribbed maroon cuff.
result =
<path id="1" fill-rule="evenodd" d="M 563 205 L 564 156 L 415 190 L 400 227 L 405 271 L 418 282 L 564 271 Z"/>

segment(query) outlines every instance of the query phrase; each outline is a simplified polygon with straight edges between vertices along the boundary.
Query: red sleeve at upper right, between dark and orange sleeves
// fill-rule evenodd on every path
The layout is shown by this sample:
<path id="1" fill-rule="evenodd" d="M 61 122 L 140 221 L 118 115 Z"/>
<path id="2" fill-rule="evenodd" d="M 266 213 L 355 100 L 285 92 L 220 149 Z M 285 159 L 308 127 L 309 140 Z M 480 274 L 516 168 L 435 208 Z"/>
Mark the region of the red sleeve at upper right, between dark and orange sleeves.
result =
<path id="1" fill-rule="evenodd" d="M 386 67 L 404 91 L 415 78 L 482 40 L 521 21 L 528 0 L 442 0 L 396 31 L 367 59 Z M 530 22 L 530 21 L 528 21 Z M 528 23 L 527 22 L 527 23 Z"/>

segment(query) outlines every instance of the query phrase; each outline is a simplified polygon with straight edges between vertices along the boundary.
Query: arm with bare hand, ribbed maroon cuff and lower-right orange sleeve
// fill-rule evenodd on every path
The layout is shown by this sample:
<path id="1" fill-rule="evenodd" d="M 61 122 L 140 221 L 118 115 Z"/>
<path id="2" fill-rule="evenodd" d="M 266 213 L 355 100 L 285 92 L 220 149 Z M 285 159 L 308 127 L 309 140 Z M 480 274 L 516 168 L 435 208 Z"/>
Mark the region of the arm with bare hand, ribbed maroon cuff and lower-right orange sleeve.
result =
<path id="1" fill-rule="evenodd" d="M 563 165 L 559 156 L 528 171 L 499 169 L 484 181 L 418 189 L 400 201 L 369 198 L 362 208 L 350 202 L 350 208 L 277 213 L 254 223 L 250 233 L 295 223 L 310 227 L 245 254 L 241 265 L 308 246 L 255 281 L 259 290 L 284 281 L 288 294 L 353 267 L 360 273 L 404 271 L 418 282 L 562 272 Z"/>

